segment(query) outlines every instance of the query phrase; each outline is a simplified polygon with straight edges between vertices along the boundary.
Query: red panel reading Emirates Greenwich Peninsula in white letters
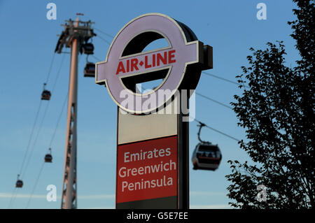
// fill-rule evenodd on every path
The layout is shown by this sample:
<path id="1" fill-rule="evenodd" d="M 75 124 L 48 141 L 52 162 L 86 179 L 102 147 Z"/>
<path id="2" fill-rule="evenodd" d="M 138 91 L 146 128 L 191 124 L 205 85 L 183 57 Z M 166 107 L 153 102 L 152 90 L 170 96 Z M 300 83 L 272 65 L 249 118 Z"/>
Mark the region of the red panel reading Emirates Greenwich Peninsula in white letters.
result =
<path id="1" fill-rule="evenodd" d="M 177 136 L 118 145 L 116 203 L 177 195 Z"/>

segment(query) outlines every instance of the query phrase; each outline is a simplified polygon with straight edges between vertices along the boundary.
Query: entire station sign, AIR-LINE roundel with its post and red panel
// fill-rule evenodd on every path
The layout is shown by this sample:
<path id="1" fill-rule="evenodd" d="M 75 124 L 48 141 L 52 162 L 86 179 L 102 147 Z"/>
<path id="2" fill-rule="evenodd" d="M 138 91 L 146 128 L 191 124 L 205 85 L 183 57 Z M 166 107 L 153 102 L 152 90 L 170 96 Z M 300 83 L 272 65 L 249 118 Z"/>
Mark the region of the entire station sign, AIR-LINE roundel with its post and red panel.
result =
<path id="1" fill-rule="evenodd" d="M 162 38 L 166 47 L 146 51 Z M 120 29 L 95 69 L 95 82 L 118 105 L 116 208 L 189 208 L 189 122 L 183 119 L 189 110 L 183 108 L 201 71 L 212 69 L 211 46 L 172 17 L 148 13 Z M 149 92 L 137 90 L 153 80 L 162 81 Z"/>

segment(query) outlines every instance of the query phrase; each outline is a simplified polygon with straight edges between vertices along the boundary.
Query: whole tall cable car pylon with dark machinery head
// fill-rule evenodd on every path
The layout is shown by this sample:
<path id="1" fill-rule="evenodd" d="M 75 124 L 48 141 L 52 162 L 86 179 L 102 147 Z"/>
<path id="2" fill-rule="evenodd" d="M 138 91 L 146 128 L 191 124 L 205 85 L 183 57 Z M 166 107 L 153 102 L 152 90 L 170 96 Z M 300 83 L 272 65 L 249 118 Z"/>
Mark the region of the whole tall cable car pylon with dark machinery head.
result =
<path id="1" fill-rule="evenodd" d="M 66 20 L 64 31 L 59 36 L 55 52 L 62 53 L 62 48 L 71 48 L 69 96 L 66 121 L 66 146 L 64 154 L 64 176 L 62 182 L 62 209 L 75 209 L 78 207 L 77 200 L 77 114 L 78 114 L 78 52 L 83 46 L 85 53 L 92 54 L 91 44 L 86 47 L 87 41 L 95 36 L 91 25 L 94 22 L 80 21 L 78 17 L 75 21 Z M 90 51 L 89 51 L 90 50 Z"/>

